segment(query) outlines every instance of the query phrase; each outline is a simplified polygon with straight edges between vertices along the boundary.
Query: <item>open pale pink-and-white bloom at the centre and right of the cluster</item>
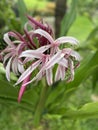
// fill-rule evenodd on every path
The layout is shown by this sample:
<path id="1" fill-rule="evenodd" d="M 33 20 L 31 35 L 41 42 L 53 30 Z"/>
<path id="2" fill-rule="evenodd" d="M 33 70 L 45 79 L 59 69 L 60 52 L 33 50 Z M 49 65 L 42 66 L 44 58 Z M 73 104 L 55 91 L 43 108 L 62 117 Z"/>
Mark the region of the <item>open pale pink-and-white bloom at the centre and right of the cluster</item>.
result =
<path id="1" fill-rule="evenodd" d="M 59 46 L 60 44 L 64 44 L 67 42 L 70 42 L 70 44 L 77 44 L 78 41 L 73 37 L 61 37 L 53 40 L 51 35 L 42 29 L 37 29 L 33 33 L 38 33 L 44 36 L 45 38 L 47 38 L 50 44 L 40 47 L 36 50 L 27 50 L 22 52 L 20 57 L 26 57 L 31 61 L 36 59 L 36 61 L 31 64 L 30 67 L 20 76 L 16 84 L 23 81 L 26 76 L 31 74 L 39 65 L 42 65 L 40 67 L 39 73 L 31 81 L 27 82 L 24 85 L 27 85 L 35 80 L 41 80 L 43 76 L 46 76 L 48 85 L 51 85 L 53 83 L 52 68 L 55 64 L 58 64 L 58 68 L 55 74 L 55 81 L 58 81 L 60 79 L 64 80 L 65 73 L 67 72 L 68 67 L 70 68 L 71 72 L 70 80 L 73 80 L 74 65 L 72 57 L 74 57 L 77 61 L 80 61 L 81 57 L 77 52 L 73 51 L 72 49 L 66 48 L 60 50 Z M 45 51 L 47 52 L 45 53 Z"/>

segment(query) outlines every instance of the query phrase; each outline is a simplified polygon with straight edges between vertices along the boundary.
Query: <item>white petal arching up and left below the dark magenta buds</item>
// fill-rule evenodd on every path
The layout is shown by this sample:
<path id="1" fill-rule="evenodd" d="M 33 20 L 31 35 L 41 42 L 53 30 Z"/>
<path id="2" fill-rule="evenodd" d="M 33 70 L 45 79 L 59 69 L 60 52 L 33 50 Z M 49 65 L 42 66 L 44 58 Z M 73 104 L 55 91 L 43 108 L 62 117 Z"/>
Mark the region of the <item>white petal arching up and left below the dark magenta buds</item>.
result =
<path id="1" fill-rule="evenodd" d="M 49 33 L 47 33 L 46 31 L 42 30 L 42 29 L 37 29 L 34 31 L 34 33 L 40 34 L 41 36 L 45 37 L 46 39 L 48 39 L 48 41 L 53 44 L 54 40 L 51 37 L 51 35 Z"/>

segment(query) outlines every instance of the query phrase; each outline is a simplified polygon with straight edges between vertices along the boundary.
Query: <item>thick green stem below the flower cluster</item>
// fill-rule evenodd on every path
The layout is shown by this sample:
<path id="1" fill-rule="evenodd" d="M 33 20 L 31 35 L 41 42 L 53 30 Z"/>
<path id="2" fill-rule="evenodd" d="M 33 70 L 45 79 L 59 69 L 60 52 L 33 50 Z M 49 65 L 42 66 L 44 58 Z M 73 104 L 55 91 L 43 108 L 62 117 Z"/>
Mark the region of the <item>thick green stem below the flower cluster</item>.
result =
<path id="1" fill-rule="evenodd" d="M 38 106 L 36 108 L 35 115 L 34 115 L 34 127 L 35 128 L 38 127 L 40 124 L 41 114 L 43 112 L 46 97 L 47 97 L 47 91 L 48 91 L 48 86 L 43 86 L 41 94 L 40 94 L 39 103 L 38 103 Z"/>

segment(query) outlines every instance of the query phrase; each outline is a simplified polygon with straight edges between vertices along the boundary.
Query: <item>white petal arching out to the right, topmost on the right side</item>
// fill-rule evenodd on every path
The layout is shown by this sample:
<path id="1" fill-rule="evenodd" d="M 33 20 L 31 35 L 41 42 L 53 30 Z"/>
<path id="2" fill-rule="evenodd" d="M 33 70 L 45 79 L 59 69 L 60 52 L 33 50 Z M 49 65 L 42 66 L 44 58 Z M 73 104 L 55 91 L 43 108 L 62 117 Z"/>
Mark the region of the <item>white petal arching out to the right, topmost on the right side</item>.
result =
<path id="1" fill-rule="evenodd" d="M 68 36 L 65 37 L 65 36 L 63 36 L 63 37 L 60 37 L 60 38 L 56 39 L 55 43 L 57 43 L 58 45 L 64 44 L 64 43 L 77 45 L 79 43 L 79 41 L 77 39 L 75 39 L 74 37 L 68 37 Z"/>

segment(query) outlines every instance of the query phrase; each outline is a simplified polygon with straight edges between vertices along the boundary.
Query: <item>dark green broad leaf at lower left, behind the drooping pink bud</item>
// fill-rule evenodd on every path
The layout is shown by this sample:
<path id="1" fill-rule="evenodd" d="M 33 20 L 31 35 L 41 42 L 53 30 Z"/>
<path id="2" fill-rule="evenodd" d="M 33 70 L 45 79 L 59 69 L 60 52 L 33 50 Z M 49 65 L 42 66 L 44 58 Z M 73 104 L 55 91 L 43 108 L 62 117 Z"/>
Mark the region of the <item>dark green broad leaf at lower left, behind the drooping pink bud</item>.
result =
<path id="1" fill-rule="evenodd" d="M 35 105 L 39 99 L 36 89 L 37 88 L 27 90 L 23 95 L 21 103 L 18 103 L 19 87 L 14 87 L 12 83 L 6 81 L 4 75 L 0 74 L 0 103 L 16 104 L 34 112 Z"/>

